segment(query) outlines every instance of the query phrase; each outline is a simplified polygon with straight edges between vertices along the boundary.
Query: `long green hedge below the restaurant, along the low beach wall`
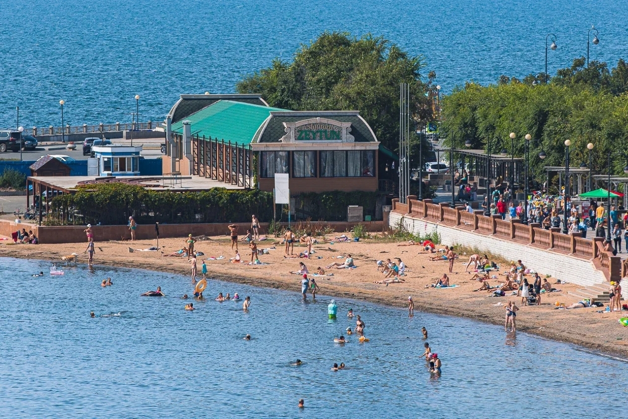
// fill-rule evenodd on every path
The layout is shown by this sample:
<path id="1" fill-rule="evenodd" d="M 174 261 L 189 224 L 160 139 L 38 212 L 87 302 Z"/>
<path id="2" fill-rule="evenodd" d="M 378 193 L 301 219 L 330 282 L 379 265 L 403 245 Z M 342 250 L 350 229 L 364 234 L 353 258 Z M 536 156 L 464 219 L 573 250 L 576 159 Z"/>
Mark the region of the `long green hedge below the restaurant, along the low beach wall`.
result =
<path id="1" fill-rule="evenodd" d="M 301 219 L 346 220 L 347 205 L 362 205 L 374 215 L 376 192 L 325 192 L 298 195 Z M 287 208 L 287 205 L 286 205 Z M 261 222 L 273 220 L 273 193 L 259 190 L 212 188 L 203 192 L 146 190 L 126 183 L 102 183 L 80 188 L 74 195 L 60 195 L 51 202 L 47 224 L 127 224 L 129 216 L 139 224 L 154 222 L 188 224 L 205 222 Z M 280 217 L 278 210 L 278 218 Z"/>

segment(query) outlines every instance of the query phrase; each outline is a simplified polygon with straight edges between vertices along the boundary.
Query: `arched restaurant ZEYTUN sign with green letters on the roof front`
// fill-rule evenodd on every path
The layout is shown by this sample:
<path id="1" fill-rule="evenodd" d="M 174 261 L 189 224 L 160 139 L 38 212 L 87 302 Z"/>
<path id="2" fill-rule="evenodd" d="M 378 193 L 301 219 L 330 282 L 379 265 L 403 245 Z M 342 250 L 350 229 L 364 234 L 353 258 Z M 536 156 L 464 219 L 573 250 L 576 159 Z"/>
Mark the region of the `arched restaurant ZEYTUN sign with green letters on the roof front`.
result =
<path id="1" fill-rule="evenodd" d="M 298 122 L 283 122 L 286 134 L 283 143 L 353 143 L 350 133 L 351 122 L 334 121 L 328 118 L 310 118 Z"/>

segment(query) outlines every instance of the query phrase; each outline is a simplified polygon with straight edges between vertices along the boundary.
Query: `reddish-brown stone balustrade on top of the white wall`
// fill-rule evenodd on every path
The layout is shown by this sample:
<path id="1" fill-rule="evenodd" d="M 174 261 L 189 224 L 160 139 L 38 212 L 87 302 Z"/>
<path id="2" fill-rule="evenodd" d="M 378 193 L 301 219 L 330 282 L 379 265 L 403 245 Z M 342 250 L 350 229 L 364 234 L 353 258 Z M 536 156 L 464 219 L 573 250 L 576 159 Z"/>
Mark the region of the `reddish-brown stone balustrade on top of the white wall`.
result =
<path id="1" fill-rule="evenodd" d="M 406 217 L 425 219 L 485 236 L 496 236 L 536 248 L 591 259 L 609 280 L 628 276 L 628 262 L 622 263 L 619 256 L 605 251 L 604 239 L 601 237 L 587 239 L 580 233 L 562 234 L 558 228 L 546 230 L 540 224 L 521 224 L 519 219 L 502 220 L 499 215 L 487 217 L 481 210 L 466 212 L 462 207 L 450 208 L 447 203 L 435 204 L 431 199 L 420 201 L 414 195 L 409 196 L 407 202 L 408 204 L 399 204 L 394 199 L 393 211 Z"/>

